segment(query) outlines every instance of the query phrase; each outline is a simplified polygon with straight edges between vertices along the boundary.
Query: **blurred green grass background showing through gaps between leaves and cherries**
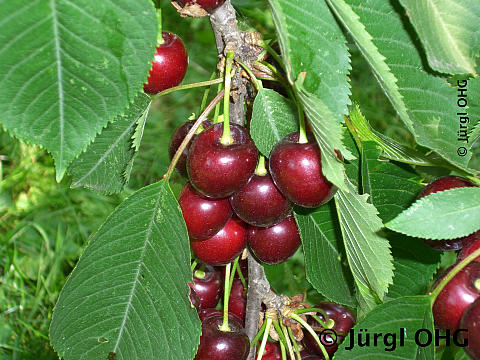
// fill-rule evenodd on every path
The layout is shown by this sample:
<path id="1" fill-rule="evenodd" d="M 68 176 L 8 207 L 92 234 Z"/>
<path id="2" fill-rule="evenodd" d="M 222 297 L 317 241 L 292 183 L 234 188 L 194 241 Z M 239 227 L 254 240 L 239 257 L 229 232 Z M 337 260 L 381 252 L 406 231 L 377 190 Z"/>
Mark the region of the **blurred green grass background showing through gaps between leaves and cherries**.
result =
<path id="1" fill-rule="evenodd" d="M 208 80 L 217 61 L 208 19 L 180 18 L 169 2 L 155 2 L 163 10 L 164 30 L 178 34 L 188 49 L 190 65 L 183 83 Z M 232 2 L 242 29 L 274 37 L 265 1 Z M 375 129 L 412 145 L 353 45 L 351 55 L 352 100 L 361 105 Z M 68 177 L 56 183 L 52 158 L 44 150 L 22 144 L 0 129 L 0 359 L 58 358 L 50 347 L 48 329 L 66 278 L 89 236 L 115 207 L 132 192 L 161 179 L 169 164 L 170 136 L 192 113 L 198 115 L 203 90 L 178 91 L 152 104 L 130 183 L 113 196 L 70 189 Z M 174 175 L 174 191 L 185 181 Z M 300 250 L 288 262 L 268 267 L 267 273 L 278 292 L 306 294 L 310 303 L 318 300 L 305 279 Z"/>

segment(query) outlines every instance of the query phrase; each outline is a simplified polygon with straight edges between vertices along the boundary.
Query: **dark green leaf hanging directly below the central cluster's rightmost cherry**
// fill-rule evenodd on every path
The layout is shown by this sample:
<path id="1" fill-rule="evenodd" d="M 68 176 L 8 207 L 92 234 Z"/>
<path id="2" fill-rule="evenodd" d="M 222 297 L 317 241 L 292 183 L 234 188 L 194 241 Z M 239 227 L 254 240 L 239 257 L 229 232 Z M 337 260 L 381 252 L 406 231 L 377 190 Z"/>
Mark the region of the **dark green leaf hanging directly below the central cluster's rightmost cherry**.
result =
<path id="1" fill-rule="evenodd" d="M 332 202 L 315 210 L 295 209 L 302 238 L 307 279 L 327 299 L 352 306 L 353 279 L 343 251 L 342 234 Z"/>

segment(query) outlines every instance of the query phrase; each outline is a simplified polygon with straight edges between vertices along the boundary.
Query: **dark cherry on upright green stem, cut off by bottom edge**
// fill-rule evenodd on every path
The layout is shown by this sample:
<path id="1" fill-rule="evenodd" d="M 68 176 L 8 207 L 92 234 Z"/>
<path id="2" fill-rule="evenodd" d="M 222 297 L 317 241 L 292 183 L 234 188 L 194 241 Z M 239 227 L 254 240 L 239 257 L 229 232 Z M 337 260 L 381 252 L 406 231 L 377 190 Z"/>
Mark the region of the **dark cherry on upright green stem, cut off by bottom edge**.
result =
<path id="1" fill-rule="evenodd" d="M 229 320 L 230 331 L 220 330 L 221 316 L 212 316 L 202 322 L 202 336 L 194 360 L 245 360 L 250 341 L 242 326 Z"/>

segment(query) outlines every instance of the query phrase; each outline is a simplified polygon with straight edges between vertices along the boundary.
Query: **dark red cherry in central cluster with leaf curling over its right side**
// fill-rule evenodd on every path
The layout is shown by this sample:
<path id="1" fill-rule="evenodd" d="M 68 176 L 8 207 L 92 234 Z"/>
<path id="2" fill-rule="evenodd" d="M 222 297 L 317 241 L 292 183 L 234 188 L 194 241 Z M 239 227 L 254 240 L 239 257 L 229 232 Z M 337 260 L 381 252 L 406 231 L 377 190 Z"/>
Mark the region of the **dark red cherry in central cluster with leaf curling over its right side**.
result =
<path id="1" fill-rule="evenodd" d="M 336 187 L 322 173 L 320 148 L 311 134 L 299 144 L 298 133 L 285 136 L 270 155 L 275 185 L 294 204 L 317 207 L 329 201 Z"/>

